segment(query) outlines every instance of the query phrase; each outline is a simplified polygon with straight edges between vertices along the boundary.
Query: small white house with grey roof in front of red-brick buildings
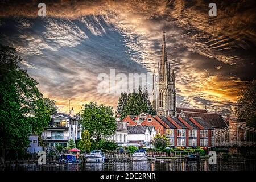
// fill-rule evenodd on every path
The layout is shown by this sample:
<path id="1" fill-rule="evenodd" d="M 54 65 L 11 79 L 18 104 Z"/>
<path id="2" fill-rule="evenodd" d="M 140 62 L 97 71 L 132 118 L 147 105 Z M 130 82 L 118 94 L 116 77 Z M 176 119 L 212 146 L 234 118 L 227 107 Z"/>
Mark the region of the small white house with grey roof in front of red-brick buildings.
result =
<path id="1" fill-rule="evenodd" d="M 154 127 L 154 126 L 153 126 Z M 146 144 L 151 141 L 151 132 L 150 130 L 155 130 L 151 127 L 149 129 L 148 126 L 127 126 L 128 129 L 128 142 L 129 143 L 138 143 L 138 144 Z M 156 132 L 154 131 L 156 134 Z"/>

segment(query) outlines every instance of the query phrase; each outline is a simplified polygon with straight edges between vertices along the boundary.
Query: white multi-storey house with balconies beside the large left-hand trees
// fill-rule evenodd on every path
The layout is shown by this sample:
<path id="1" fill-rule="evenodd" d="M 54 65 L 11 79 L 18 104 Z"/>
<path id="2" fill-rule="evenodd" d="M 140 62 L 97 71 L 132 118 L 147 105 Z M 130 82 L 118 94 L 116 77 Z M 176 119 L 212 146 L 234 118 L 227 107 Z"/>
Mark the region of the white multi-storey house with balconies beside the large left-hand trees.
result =
<path id="1" fill-rule="evenodd" d="M 69 139 L 81 138 L 80 118 L 76 115 L 56 113 L 52 115 L 49 126 L 43 131 L 42 138 L 46 146 L 56 146 L 57 144 L 67 147 Z"/>

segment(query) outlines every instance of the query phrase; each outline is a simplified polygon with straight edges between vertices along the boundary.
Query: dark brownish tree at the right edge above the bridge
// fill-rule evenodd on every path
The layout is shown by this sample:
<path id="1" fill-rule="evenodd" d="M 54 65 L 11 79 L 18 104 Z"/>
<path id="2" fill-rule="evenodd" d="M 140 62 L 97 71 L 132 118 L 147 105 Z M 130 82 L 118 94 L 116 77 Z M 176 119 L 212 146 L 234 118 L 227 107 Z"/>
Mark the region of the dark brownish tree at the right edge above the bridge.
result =
<path id="1" fill-rule="evenodd" d="M 246 125 L 256 128 L 256 80 L 242 89 L 236 102 L 236 114 Z"/>

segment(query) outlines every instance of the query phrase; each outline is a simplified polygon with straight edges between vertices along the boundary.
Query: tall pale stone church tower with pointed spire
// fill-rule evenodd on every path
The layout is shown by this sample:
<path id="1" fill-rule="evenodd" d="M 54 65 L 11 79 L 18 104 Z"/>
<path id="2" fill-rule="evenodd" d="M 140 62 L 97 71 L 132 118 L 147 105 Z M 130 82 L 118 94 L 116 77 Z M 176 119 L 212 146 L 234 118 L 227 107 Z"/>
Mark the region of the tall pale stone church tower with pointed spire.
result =
<path id="1" fill-rule="evenodd" d="M 166 37 L 163 31 L 162 55 L 158 71 L 153 74 L 152 104 L 157 115 L 176 116 L 176 91 L 174 70 L 167 61 Z"/>

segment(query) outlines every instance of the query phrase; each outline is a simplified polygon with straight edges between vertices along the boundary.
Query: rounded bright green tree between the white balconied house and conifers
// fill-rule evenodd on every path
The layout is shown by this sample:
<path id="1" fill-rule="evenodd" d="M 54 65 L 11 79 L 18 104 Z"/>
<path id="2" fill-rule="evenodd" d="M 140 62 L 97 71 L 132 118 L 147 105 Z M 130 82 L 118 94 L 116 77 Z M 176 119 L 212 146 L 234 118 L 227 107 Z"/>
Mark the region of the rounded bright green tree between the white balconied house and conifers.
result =
<path id="1" fill-rule="evenodd" d="M 84 104 L 81 111 L 81 124 L 90 134 L 96 136 L 98 143 L 101 138 L 110 137 L 116 129 L 113 107 L 104 104 L 97 105 L 97 102 Z"/>

